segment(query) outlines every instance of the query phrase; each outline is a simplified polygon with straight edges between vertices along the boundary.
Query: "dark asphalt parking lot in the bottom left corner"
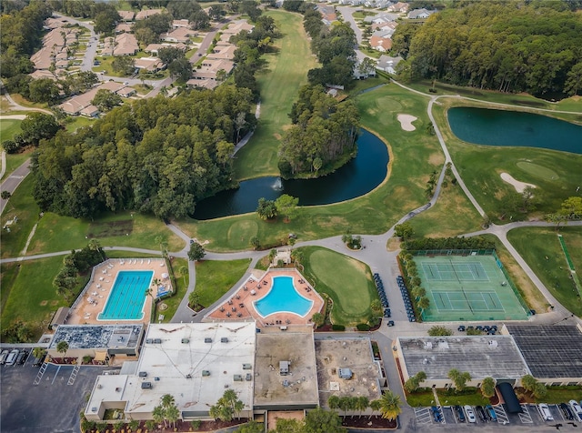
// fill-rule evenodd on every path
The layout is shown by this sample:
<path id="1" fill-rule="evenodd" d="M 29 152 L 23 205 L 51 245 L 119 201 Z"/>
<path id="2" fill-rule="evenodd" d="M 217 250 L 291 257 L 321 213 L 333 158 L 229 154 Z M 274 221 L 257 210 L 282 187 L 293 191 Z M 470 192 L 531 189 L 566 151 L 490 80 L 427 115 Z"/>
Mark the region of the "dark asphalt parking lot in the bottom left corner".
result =
<path id="1" fill-rule="evenodd" d="M 33 360 L 0 367 L 2 431 L 78 433 L 79 411 L 104 368 L 82 367 L 74 374 L 74 366 L 49 364 L 34 385 L 40 368 Z"/>

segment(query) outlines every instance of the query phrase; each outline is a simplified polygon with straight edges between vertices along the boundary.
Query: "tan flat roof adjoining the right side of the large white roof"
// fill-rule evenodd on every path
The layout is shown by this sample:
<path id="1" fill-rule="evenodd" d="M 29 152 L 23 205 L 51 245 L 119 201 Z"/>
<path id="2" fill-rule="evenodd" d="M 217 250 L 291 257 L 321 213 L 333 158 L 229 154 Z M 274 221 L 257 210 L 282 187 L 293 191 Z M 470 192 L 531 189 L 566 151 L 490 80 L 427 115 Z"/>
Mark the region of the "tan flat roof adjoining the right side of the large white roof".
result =
<path id="1" fill-rule="evenodd" d="M 316 351 L 312 327 L 263 329 L 256 336 L 255 406 L 316 407 Z M 281 376 L 279 362 L 289 361 Z M 285 385 L 284 385 L 285 382 Z"/>

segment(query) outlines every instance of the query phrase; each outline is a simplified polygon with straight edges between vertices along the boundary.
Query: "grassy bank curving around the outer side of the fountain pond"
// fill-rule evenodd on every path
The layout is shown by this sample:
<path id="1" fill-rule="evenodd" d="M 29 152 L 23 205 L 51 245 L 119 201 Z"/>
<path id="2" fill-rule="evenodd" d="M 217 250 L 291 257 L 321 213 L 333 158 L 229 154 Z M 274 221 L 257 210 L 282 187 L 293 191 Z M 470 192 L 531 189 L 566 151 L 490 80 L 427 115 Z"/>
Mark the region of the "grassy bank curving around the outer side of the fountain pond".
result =
<path id="1" fill-rule="evenodd" d="M 208 239 L 206 249 L 212 251 L 247 249 L 254 236 L 263 246 L 275 246 L 286 242 L 289 233 L 296 233 L 299 240 L 339 235 L 348 228 L 352 233 L 384 233 L 406 212 L 426 203 L 426 182 L 432 171 L 442 167 L 437 137 L 426 133 L 426 102 L 425 97 L 393 85 L 356 97 L 362 123 L 386 142 L 390 154 L 386 180 L 366 196 L 302 207 L 289 223 L 262 221 L 253 213 L 210 221 L 186 218 L 177 224 L 191 237 Z M 396 120 L 400 113 L 418 118 L 415 131 L 402 130 Z"/>

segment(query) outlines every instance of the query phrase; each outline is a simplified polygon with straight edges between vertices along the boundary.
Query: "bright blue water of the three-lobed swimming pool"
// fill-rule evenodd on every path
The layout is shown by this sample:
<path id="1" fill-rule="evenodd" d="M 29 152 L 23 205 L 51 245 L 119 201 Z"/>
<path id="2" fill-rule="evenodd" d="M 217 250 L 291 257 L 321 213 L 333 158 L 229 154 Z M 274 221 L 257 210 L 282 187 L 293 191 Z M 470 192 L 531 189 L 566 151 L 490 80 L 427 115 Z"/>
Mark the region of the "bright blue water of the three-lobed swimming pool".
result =
<path id="1" fill-rule="evenodd" d="M 313 301 L 299 295 L 293 286 L 293 277 L 274 277 L 269 293 L 255 301 L 254 305 L 261 317 L 273 313 L 294 313 L 304 317 L 313 306 Z"/>

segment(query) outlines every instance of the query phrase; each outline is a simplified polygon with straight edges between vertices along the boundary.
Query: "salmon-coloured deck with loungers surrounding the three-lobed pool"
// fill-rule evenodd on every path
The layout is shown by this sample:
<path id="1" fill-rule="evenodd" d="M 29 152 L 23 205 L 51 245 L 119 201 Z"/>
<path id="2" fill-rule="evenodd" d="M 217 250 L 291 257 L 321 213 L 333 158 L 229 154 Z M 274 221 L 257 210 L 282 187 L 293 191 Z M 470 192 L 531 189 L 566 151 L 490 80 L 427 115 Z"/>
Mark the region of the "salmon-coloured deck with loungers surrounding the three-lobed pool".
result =
<path id="1" fill-rule="evenodd" d="M 266 294 L 273 287 L 273 278 L 281 276 L 293 277 L 293 285 L 299 295 L 313 301 L 313 305 L 305 317 L 299 317 L 289 312 L 273 313 L 266 317 L 261 317 L 256 311 L 253 302 L 266 297 Z M 245 320 L 253 318 L 256 320 L 256 327 L 305 326 L 312 323 L 311 317 L 315 313 L 319 313 L 323 307 L 323 298 L 309 285 L 297 269 L 271 269 L 260 276 L 249 277 L 230 299 L 206 314 L 204 320 Z"/>

